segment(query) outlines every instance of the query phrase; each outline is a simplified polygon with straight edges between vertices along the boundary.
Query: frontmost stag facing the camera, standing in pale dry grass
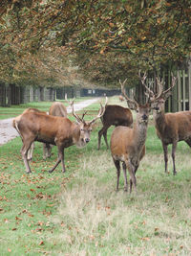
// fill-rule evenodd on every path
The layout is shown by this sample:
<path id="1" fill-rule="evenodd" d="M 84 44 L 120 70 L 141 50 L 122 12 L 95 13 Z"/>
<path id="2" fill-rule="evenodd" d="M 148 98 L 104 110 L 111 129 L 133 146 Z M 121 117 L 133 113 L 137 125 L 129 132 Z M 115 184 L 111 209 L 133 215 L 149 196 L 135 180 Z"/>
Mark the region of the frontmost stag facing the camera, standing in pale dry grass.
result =
<path id="1" fill-rule="evenodd" d="M 120 82 L 120 81 L 119 81 Z M 136 173 L 140 160 L 145 155 L 145 141 L 147 135 L 147 127 L 149 113 L 151 110 L 151 100 L 148 99 L 146 104 L 141 105 L 136 99 L 130 99 L 124 89 L 124 82 L 121 83 L 121 92 L 124 95 L 127 103 L 131 105 L 131 109 L 137 111 L 137 118 L 133 124 L 133 128 L 119 126 L 114 129 L 111 136 L 110 149 L 112 158 L 117 169 L 117 191 L 120 177 L 120 162 L 124 175 L 124 191 L 128 190 L 127 174 L 130 175 L 130 194 L 134 185 L 137 192 Z"/>

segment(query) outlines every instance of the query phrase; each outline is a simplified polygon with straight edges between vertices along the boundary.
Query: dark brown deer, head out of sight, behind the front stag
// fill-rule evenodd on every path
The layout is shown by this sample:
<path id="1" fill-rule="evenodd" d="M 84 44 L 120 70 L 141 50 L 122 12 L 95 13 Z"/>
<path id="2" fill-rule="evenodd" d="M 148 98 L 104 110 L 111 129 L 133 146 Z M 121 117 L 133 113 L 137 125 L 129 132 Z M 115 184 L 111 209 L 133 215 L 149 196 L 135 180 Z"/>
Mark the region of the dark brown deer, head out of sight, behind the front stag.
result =
<path id="1" fill-rule="evenodd" d="M 121 105 L 106 105 L 105 112 L 101 117 L 103 127 L 98 131 L 98 146 L 97 150 L 100 150 L 101 136 L 103 135 L 107 150 L 109 145 L 107 141 L 107 130 L 111 126 L 124 126 L 130 127 L 133 124 L 133 115 L 128 107 Z"/>

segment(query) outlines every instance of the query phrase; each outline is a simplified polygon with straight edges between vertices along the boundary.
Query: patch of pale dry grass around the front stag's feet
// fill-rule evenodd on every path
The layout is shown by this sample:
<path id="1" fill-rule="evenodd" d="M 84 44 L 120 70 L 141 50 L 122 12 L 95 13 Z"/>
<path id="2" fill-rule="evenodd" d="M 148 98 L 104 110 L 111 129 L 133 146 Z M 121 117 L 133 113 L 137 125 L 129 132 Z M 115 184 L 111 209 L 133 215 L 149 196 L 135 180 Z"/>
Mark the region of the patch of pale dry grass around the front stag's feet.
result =
<path id="1" fill-rule="evenodd" d="M 123 175 L 116 192 L 109 151 L 93 151 L 80 159 L 53 220 L 63 228 L 56 239 L 68 255 L 189 255 L 191 159 L 190 152 L 182 159 L 181 151 L 177 176 L 163 173 L 161 151 L 147 153 L 138 169 L 137 195 L 123 192 Z"/>

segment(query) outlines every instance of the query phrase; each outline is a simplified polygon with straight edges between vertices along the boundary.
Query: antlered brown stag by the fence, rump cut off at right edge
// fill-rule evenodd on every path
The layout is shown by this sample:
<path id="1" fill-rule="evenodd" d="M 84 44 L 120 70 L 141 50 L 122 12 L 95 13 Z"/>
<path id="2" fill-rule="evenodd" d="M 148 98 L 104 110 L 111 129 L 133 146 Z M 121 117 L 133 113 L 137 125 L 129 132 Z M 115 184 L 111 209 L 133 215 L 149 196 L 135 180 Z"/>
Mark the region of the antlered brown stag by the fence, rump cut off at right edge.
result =
<path id="1" fill-rule="evenodd" d="M 171 86 L 164 90 L 164 81 L 157 78 L 159 93 L 154 93 L 144 83 L 146 93 L 154 100 L 153 118 L 163 149 L 165 173 L 168 173 L 168 145 L 172 144 L 173 175 L 177 175 L 175 156 L 178 142 L 185 141 L 191 147 L 191 111 L 164 112 L 165 102 L 172 94 L 172 88 L 175 86 L 176 81 L 177 78 L 172 75 Z"/>

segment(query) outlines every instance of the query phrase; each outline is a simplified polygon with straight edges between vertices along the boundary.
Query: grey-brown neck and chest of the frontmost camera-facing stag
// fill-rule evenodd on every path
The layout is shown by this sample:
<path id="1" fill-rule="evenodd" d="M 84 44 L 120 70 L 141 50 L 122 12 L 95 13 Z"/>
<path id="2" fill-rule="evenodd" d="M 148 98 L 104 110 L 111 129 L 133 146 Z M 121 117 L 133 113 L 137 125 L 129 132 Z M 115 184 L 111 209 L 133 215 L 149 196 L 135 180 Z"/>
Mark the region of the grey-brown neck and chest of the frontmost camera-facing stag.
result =
<path id="1" fill-rule="evenodd" d="M 148 122 L 142 122 L 139 123 L 138 121 L 134 124 L 134 142 L 135 145 L 137 145 L 137 148 L 139 150 L 142 149 L 142 147 L 145 144 L 145 140 L 146 140 L 146 134 L 147 134 L 147 126 L 148 126 Z"/>

